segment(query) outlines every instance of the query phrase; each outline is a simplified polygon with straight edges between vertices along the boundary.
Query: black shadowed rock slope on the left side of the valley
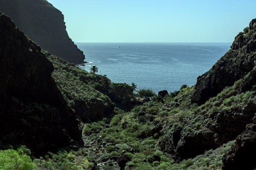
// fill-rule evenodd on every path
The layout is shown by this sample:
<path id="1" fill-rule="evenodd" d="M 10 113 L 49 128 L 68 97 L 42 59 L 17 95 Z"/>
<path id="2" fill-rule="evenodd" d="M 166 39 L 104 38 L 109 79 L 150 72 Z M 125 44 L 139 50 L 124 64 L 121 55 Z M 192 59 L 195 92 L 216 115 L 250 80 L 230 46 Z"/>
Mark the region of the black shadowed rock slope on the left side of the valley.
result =
<path id="1" fill-rule="evenodd" d="M 51 77 L 41 48 L 0 13 L 0 147 L 25 144 L 36 154 L 81 140 L 75 114 Z"/>

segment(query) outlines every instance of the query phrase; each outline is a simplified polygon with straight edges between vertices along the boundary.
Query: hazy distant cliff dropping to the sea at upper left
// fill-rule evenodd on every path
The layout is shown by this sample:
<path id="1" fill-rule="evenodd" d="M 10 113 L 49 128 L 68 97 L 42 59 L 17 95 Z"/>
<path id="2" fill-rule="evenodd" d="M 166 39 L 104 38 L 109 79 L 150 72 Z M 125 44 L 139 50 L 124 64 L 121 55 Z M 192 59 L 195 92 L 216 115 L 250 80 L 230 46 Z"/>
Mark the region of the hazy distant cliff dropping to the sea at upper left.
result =
<path id="1" fill-rule="evenodd" d="M 0 11 L 44 50 L 75 64 L 84 54 L 67 34 L 64 16 L 47 0 L 0 0 Z"/>

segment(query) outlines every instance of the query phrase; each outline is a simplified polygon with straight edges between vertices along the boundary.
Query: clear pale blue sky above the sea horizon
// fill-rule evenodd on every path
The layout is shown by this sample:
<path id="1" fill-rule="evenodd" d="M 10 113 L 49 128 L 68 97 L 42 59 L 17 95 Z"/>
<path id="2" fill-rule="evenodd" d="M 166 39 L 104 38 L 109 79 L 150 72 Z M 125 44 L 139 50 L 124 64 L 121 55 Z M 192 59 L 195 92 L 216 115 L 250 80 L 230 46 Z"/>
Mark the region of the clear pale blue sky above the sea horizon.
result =
<path id="1" fill-rule="evenodd" d="M 48 0 L 74 42 L 233 42 L 256 0 Z"/>

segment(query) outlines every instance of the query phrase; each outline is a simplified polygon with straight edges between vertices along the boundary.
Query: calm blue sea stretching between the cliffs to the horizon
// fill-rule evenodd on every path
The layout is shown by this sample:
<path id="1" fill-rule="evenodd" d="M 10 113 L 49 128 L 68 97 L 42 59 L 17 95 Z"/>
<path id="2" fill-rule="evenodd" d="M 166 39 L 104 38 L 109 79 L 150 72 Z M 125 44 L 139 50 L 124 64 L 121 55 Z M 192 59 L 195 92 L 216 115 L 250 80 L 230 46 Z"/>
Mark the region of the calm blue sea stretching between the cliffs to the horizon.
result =
<path id="1" fill-rule="evenodd" d="M 97 65 L 112 82 L 137 84 L 155 92 L 195 85 L 229 49 L 231 43 L 77 43 L 86 66 Z"/>

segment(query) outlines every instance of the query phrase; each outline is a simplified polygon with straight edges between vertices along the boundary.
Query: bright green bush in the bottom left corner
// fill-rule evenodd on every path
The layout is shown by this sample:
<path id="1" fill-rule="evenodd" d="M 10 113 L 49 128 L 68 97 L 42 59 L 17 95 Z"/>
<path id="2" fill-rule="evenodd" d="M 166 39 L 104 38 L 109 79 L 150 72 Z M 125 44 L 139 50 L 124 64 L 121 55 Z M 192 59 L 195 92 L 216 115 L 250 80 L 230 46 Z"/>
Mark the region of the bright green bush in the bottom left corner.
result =
<path id="1" fill-rule="evenodd" d="M 22 150 L 0 150 L 0 170 L 35 170 L 36 166 Z"/>

